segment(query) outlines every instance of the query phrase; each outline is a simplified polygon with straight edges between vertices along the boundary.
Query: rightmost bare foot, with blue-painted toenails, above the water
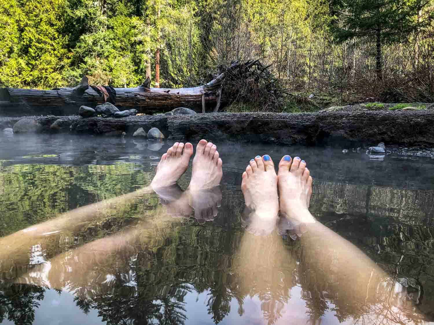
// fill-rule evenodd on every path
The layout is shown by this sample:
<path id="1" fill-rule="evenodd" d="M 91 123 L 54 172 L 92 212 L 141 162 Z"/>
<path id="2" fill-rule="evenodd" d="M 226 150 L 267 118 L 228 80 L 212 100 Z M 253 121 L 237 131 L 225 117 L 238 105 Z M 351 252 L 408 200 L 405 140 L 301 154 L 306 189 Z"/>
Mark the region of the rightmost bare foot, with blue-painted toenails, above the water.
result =
<path id="1" fill-rule="evenodd" d="M 277 173 L 280 212 L 299 222 L 315 222 L 309 212 L 312 195 L 312 176 L 306 162 L 299 157 L 283 156 Z"/>

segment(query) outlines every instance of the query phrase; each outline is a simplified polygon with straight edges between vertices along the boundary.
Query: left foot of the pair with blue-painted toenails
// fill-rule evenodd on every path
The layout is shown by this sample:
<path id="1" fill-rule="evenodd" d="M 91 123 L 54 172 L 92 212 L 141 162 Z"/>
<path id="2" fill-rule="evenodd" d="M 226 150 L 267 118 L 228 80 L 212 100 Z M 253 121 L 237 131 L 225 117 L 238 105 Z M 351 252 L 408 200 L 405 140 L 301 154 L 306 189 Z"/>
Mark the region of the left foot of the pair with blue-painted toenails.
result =
<path id="1" fill-rule="evenodd" d="M 277 175 L 270 156 L 256 156 L 250 160 L 250 165 L 243 172 L 241 190 L 246 206 L 257 216 L 273 219 L 277 217 Z"/>

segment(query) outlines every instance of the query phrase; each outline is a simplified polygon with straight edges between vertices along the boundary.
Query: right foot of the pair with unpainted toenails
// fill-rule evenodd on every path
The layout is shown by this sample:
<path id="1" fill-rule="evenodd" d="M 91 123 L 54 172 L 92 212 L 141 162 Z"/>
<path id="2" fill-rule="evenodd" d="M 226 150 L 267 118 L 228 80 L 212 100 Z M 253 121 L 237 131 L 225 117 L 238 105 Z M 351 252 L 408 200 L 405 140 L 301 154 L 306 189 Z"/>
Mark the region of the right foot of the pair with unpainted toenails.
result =
<path id="1" fill-rule="evenodd" d="M 219 185 L 223 176 L 222 164 L 217 146 L 207 140 L 199 141 L 193 159 L 193 170 L 188 189 L 196 192 Z"/>

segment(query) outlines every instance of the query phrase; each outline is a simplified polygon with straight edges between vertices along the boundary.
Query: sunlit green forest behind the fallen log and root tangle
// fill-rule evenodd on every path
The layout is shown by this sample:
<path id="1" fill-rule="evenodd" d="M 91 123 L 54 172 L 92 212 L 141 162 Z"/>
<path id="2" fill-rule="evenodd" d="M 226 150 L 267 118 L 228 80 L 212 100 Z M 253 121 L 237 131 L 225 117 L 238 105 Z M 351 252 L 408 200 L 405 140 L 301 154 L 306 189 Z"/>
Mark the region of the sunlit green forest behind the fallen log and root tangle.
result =
<path id="1" fill-rule="evenodd" d="M 434 0 L 0 0 L 0 87 L 76 86 L 82 75 L 189 87 L 260 59 L 295 95 L 280 111 L 309 94 L 315 107 L 433 102 L 433 13 Z"/>

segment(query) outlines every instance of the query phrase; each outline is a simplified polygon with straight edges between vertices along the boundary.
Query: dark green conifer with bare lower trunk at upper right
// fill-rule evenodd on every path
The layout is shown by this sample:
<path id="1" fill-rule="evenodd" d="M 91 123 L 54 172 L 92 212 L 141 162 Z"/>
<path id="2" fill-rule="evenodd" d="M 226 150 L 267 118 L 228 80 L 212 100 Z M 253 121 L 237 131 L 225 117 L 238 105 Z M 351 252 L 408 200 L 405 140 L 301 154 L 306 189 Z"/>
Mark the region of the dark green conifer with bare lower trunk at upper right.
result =
<path id="1" fill-rule="evenodd" d="M 331 30 L 338 42 L 353 37 L 376 42 L 376 74 L 382 79 L 381 46 L 399 42 L 416 29 L 418 12 L 427 0 L 344 0 L 333 1 L 335 19 Z"/>

